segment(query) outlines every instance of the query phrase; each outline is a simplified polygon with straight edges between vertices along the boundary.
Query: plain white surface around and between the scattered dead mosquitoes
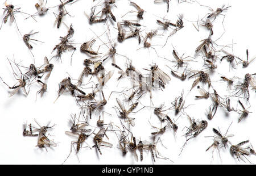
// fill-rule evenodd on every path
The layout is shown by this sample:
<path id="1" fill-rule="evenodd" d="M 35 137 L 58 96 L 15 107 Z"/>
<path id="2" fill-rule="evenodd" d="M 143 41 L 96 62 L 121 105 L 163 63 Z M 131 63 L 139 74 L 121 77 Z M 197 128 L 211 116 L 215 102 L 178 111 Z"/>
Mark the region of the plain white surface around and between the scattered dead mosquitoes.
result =
<path id="1" fill-rule="evenodd" d="M 30 93 L 28 96 L 24 96 L 22 91 L 19 91 L 18 94 L 15 94 L 13 97 L 8 97 L 8 87 L 1 82 L 0 86 L 0 113 L 1 113 L 1 128 L 0 128 L 0 164 L 61 164 L 65 158 L 67 158 L 70 151 L 70 144 L 72 140 L 76 140 L 76 138 L 69 137 L 65 135 L 65 131 L 68 131 L 71 127 L 70 123 L 70 114 L 79 114 L 79 107 L 76 104 L 75 98 L 71 96 L 70 93 L 64 93 L 61 97 L 53 104 L 53 101 L 57 97 L 58 83 L 68 77 L 68 74 L 77 79 L 84 68 L 82 64 L 85 58 L 89 58 L 84 53 L 80 52 L 80 45 L 85 41 L 92 39 L 92 37 L 96 38 L 94 33 L 89 30 L 92 29 L 98 36 L 101 35 L 105 30 L 106 26 L 101 24 L 92 24 L 88 23 L 88 19 L 84 15 L 84 11 L 88 14 L 90 13 L 90 7 L 98 3 L 92 1 L 77 1 L 72 5 L 67 5 L 67 11 L 73 16 L 66 15 L 63 19 L 65 24 L 69 26 L 71 23 L 73 24 L 73 28 L 75 29 L 75 34 L 72 38 L 73 42 L 76 44 L 77 51 L 74 53 L 72 58 L 72 66 L 70 64 L 70 57 L 72 55 L 72 51 L 64 52 L 61 56 L 62 63 L 60 60 L 56 60 L 52 58 L 51 63 L 54 64 L 54 69 L 52 71 L 51 76 L 48 79 L 48 91 L 40 98 L 35 101 L 36 91 L 40 89 L 36 84 L 30 87 Z M 175 47 L 176 51 L 179 55 L 184 54 L 185 56 L 194 56 L 195 49 L 200 44 L 200 40 L 207 38 L 208 31 L 200 27 L 200 32 L 197 32 L 193 27 L 190 21 L 195 21 L 198 18 L 201 19 L 206 15 L 209 11 L 207 7 L 200 6 L 198 3 L 180 3 L 172 0 L 170 2 L 170 11 L 167 14 L 167 6 L 165 3 L 163 4 L 154 4 L 154 1 L 134 1 L 139 6 L 142 7 L 146 12 L 144 13 L 144 19 L 141 20 L 141 24 L 146 26 L 146 28 L 142 27 L 142 35 L 145 35 L 145 32 L 150 32 L 155 28 L 159 28 L 158 24 L 156 24 L 156 19 L 159 19 L 156 16 L 160 16 L 163 18 L 165 15 L 166 19 L 170 19 L 172 22 L 176 22 L 177 15 L 184 15 L 184 28 L 178 31 L 174 36 L 168 39 L 168 42 L 164 48 L 162 46 L 166 42 L 166 37 L 169 31 L 164 32 L 162 36 L 156 36 L 152 40 L 152 45 L 158 52 L 158 55 L 161 57 L 166 57 L 168 60 L 174 60 L 172 56 L 172 45 Z M 7 3 L 10 3 L 8 1 Z M 20 11 L 27 12 L 28 14 L 34 14 L 36 9 L 34 7 L 36 1 L 11 1 L 15 8 L 21 7 Z M 254 17 L 255 17 L 255 2 L 254 1 L 200 1 L 201 4 L 210 6 L 214 10 L 217 7 L 221 7 L 223 4 L 231 5 L 228 11 L 225 11 L 223 14 L 225 15 L 224 27 L 225 33 L 216 41 L 218 45 L 228 45 L 232 43 L 236 43 L 233 45 L 234 55 L 239 56 L 243 59 L 246 59 L 246 49 L 249 49 L 249 58 L 254 58 L 255 54 L 255 25 L 254 25 Z M 52 7 L 59 5 L 59 1 L 48 1 L 47 7 Z M 113 8 L 113 14 L 116 16 L 117 21 L 121 21 L 121 16 L 125 14 L 127 11 L 135 10 L 135 8 L 129 5 L 129 1 L 120 1 L 117 0 L 115 3 L 117 8 Z M 1 3 L 1 7 L 4 7 L 4 4 Z M 0 11 L 1 14 L 3 10 Z M 3 24 L 2 29 L 0 30 L 0 39 L 1 39 L 1 52 L 0 52 L 0 76 L 3 80 L 8 83 L 10 86 L 15 84 L 15 79 L 12 74 L 12 70 L 10 64 L 7 60 L 7 57 L 10 60 L 15 58 L 16 62 L 19 62 L 22 66 L 29 66 L 34 62 L 35 65 L 40 66 L 43 64 L 44 56 L 51 58 L 56 55 L 56 52 L 52 52 L 52 49 L 56 44 L 60 42 L 59 37 L 67 35 L 68 28 L 65 27 L 64 23 L 61 24 L 60 28 L 57 29 L 54 26 L 55 16 L 53 12 L 58 13 L 57 7 L 52 8 L 48 11 L 48 14 L 44 16 L 36 16 L 37 22 L 35 22 L 32 18 L 28 18 L 24 20 L 27 15 L 16 13 L 15 19 L 18 24 L 19 30 L 22 35 L 29 33 L 31 30 L 39 31 L 36 35 L 32 36 L 34 39 L 38 39 L 43 41 L 44 43 L 33 42 L 32 53 L 34 54 L 34 58 L 32 57 L 30 51 L 23 43 L 22 37 L 20 36 L 17 28 L 15 27 L 15 23 L 10 24 L 9 21 L 6 24 Z M 3 19 L 3 15 L 1 15 Z M 224 16 L 218 16 L 217 19 L 213 23 L 213 32 L 212 40 L 218 39 L 224 32 L 224 27 L 222 26 L 222 20 Z M 136 14 L 130 13 L 126 15 L 123 19 L 136 19 Z M 116 28 L 116 23 L 114 23 L 114 27 Z M 117 30 L 110 27 L 111 37 L 117 41 Z M 159 31 L 162 33 L 162 31 Z M 107 42 L 108 38 L 106 37 L 106 33 L 101 36 L 101 40 Z M 118 43 L 118 42 L 117 42 Z M 102 45 L 100 40 L 96 40 L 96 43 L 93 45 L 93 48 L 97 50 L 98 45 Z M 210 99 L 207 100 L 195 100 L 195 95 L 198 95 L 198 91 L 196 87 L 189 93 L 191 89 L 191 85 L 194 78 L 181 82 L 179 79 L 171 76 L 170 69 L 168 69 L 165 65 L 174 66 L 175 64 L 164 60 L 163 58 L 158 58 L 154 49 L 139 49 L 142 45 L 138 45 L 138 40 L 135 38 L 125 40 L 123 43 L 118 43 L 117 52 L 121 55 L 126 55 L 133 61 L 133 65 L 141 70 L 144 74 L 146 74 L 146 70 L 142 70 L 142 68 L 150 68 L 150 64 L 155 63 L 159 65 L 159 68 L 166 72 L 170 77 L 171 81 L 166 85 L 166 89 L 164 91 L 156 90 L 153 91 L 153 102 L 155 106 L 160 106 L 161 103 L 165 103 L 166 107 L 171 106 L 171 102 L 175 99 L 175 97 L 181 94 L 181 91 L 184 89 L 184 97 L 185 97 L 185 106 L 189 106 L 185 108 L 185 112 L 189 114 L 192 118 L 199 120 L 207 120 L 206 110 L 209 108 L 212 103 Z M 226 50 L 232 53 L 232 48 L 226 48 Z M 106 53 L 108 48 L 105 45 L 102 45 L 100 48 L 100 53 Z M 224 55 L 223 53 L 219 53 L 219 55 Z M 221 58 L 221 56 L 220 56 Z M 201 57 L 196 58 L 197 62 L 191 62 L 189 67 L 192 67 L 194 70 L 201 69 L 203 66 L 203 60 Z M 125 68 L 125 58 L 122 56 L 116 57 L 117 65 L 121 66 L 123 69 Z M 246 73 L 255 73 L 255 61 L 251 62 L 251 65 L 244 69 L 242 65 L 237 65 L 237 69 L 230 68 L 229 63 L 226 60 L 222 62 L 218 59 L 216 64 L 218 68 L 215 73 L 211 73 L 212 85 L 214 89 L 217 90 L 218 94 L 221 97 L 225 97 L 225 95 L 229 95 L 230 92 L 226 91 L 226 83 L 220 81 L 220 74 L 224 74 L 226 77 L 237 76 L 239 78 L 243 78 Z M 111 66 L 111 61 L 107 61 L 105 63 L 106 70 L 113 70 L 114 68 Z M 183 69 L 179 71 L 182 72 Z M 17 70 L 16 70 L 17 71 Z M 23 68 L 23 73 L 27 70 Z M 217 73 L 218 72 L 218 73 Z M 18 72 L 16 72 L 18 73 Z M 121 91 L 127 85 L 126 82 L 128 79 L 123 79 L 120 82 L 116 81 L 116 78 L 119 76 L 117 70 L 110 81 L 104 87 L 105 97 L 109 97 L 111 91 Z M 42 79 L 43 80 L 43 79 Z M 89 78 L 84 78 L 84 82 L 88 82 Z M 239 80 L 237 80 L 239 81 Z M 242 79 L 240 79 L 242 81 Z M 76 82 L 73 80 L 72 82 Z M 236 82 L 237 83 L 237 82 Z M 117 86 L 118 85 L 118 86 Z M 201 85 L 201 83 L 199 84 Z M 90 86 L 83 86 L 84 88 Z M 205 85 L 207 88 L 207 85 Z M 90 93 L 91 89 L 83 89 L 86 93 Z M 212 89 L 210 89 L 212 93 Z M 189 94 L 188 94 L 189 93 Z M 126 92 L 129 94 L 129 91 Z M 113 121 L 114 124 L 119 124 L 119 118 L 114 110 L 114 106 L 117 106 L 115 101 L 115 97 L 119 96 L 119 99 L 123 99 L 122 94 L 113 94 L 112 97 L 108 100 L 108 103 L 104 107 L 104 111 L 112 114 L 113 116 L 104 116 L 104 120 L 106 122 Z M 185 129 L 182 131 L 184 127 L 189 126 L 189 121 L 185 115 L 181 115 L 179 120 L 177 120 L 177 124 L 179 129 L 176 133 L 176 137 L 173 134 L 171 129 L 167 129 L 166 133 L 161 137 L 163 141 L 163 145 L 166 146 L 164 148 L 161 144 L 157 145 L 159 152 L 162 156 L 170 158 L 174 161 L 174 164 L 244 164 L 242 161 L 238 162 L 235 160 L 228 149 L 221 149 L 221 160 L 218 157 L 216 151 L 214 151 L 214 160 L 212 159 L 212 152 L 205 152 L 205 149 L 208 148 L 213 143 L 212 138 L 206 138 L 204 136 L 212 136 L 212 128 L 220 128 L 222 133 L 225 133 L 229 124 L 233 121 L 229 129 L 229 133 L 233 133 L 234 137 L 230 138 L 232 144 L 238 144 L 243 140 L 250 140 L 250 143 L 256 145 L 255 141 L 255 93 L 250 90 L 250 104 L 246 103 L 245 99 L 241 99 L 245 107 L 249 107 L 249 111 L 252 113 L 249 116 L 242 120 L 240 123 L 237 123 L 238 114 L 237 112 L 230 112 L 229 115 L 226 115 L 224 108 L 219 108 L 217 110 L 217 114 L 214 116 L 212 120 L 208 120 L 208 127 L 203 131 L 199 136 L 195 139 L 189 141 L 187 146 L 185 146 L 183 152 L 179 156 L 180 148 L 185 142 L 185 137 L 182 136 L 185 133 Z M 101 95 L 97 95 L 97 99 L 101 99 Z M 234 109 L 241 107 L 237 106 L 237 98 L 232 98 L 231 106 Z M 148 94 L 144 96 L 144 98 L 140 99 L 140 102 L 143 104 L 139 104 L 137 110 L 142 108 L 143 106 L 150 106 L 150 99 Z M 125 104 L 127 107 L 128 104 Z M 177 119 L 179 116 L 175 116 L 174 111 L 167 111 L 168 115 L 171 118 Z M 137 114 L 131 114 L 132 118 L 135 118 L 135 127 L 132 128 L 133 134 L 137 139 L 141 138 L 142 140 L 151 140 L 150 133 L 154 132 L 155 129 L 150 126 L 154 124 L 154 126 L 160 128 L 159 120 L 156 116 L 150 111 L 150 108 L 144 108 L 139 111 Z M 49 133 L 52 135 L 49 137 L 50 139 L 54 139 L 55 143 L 57 143 L 56 148 L 48 148 L 48 152 L 45 149 L 39 149 L 35 145 L 37 144 L 37 137 L 23 137 L 23 124 L 28 121 L 28 123 L 32 123 L 34 127 L 37 127 L 34 118 L 39 121 L 40 124 L 46 125 L 49 121 L 51 124 L 56 124 L 52 131 Z M 93 120 L 90 121 L 90 124 L 96 126 L 96 121 L 98 120 L 98 115 L 93 114 Z M 150 121 L 150 123 L 148 122 Z M 92 127 L 93 128 L 93 127 Z M 96 132 L 98 129 L 96 129 Z M 98 154 L 95 148 L 81 149 L 78 156 L 80 160 L 80 164 L 152 164 L 151 154 L 144 152 L 143 162 L 135 162 L 131 153 L 127 153 L 125 157 L 122 156 L 121 150 L 117 149 L 117 137 L 115 133 L 109 132 L 107 133 L 109 140 L 105 139 L 109 143 L 113 144 L 113 148 L 104 148 L 102 147 L 102 156 Z M 93 135 L 90 136 L 89 139 L 86 140 L 90 146 L 94 145 L 93 143 Z M 138 142 L 138 141 L 137 141 Z M 245 145 L 246 146 L 246 145 Z M 139 152 L 137 151 L 139 156 Z M 249 158 L 251 162 L 255 163 L 255 156 L 251 156 Z M 247 164 L 249 162 L 246 162 Z M 71 156 L 65 162 L 65 164 L 79 164 L 75 152 L 73 151 Z M 161 160 L 156 158 L 156 164 L 172 164 L 169 160 Z"/>

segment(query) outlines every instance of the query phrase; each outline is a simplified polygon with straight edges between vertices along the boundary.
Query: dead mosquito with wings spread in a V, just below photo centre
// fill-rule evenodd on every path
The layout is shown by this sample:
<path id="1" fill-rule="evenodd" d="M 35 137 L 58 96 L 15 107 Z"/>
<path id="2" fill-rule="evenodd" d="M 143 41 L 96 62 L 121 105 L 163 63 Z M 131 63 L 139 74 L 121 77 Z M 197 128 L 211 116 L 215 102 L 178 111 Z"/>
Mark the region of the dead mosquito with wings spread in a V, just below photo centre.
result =
<path id="1" fill-rule="evenodd" d="M 123 119 L 125 119 L 125 122 L 128 121 L 129 124 L 134 127 L 134 125 L 135 125 L 134 119 L 129 118 L 128 115 L 130 114 L 131 111 L 133 111 L 138 106 L 138 102 L 132 104 L 131 107 L 129 108 L 129 110 L 125 110 L 125 107 L 123 106 L 123 103 L 118 98 L 116 98 L 115 100 L 117 100 L 117 104 L 121 108 L 121 111 L 118 110 L 119 115 Z"/>

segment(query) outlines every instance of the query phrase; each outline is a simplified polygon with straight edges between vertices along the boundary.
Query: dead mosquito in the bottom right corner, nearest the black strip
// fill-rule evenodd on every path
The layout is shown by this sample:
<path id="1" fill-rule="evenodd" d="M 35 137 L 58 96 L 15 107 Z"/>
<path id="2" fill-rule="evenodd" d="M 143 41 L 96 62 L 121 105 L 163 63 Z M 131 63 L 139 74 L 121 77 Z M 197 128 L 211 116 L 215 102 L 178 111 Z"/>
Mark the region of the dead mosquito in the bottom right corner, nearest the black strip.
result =
<path id="1" fill-rule="evenodd" d="M 250 155 L 250 152 L 248 152 L 246 150 L 246 148 L 242 148 L 243 144 L 249 143 L 249 140 L 246 141 L 242 141 L 241 143 L 237 144 L 237 145 L 232 145 L 230 146 L 230 152 L 237 157 L 237 160 L 239 161 L 239 159 L 242 160 L 241 156 L 245 157 Z M 246 158 L 246 160 L 248 160 Z M 242 160 L 243 161 L 243 160 Z M 249 161 L 249 160 L 248 160 Z M 243 161 L 245 162 L 245 161 Z M 250 162 L 250 161 L 249 161 Z"/>

